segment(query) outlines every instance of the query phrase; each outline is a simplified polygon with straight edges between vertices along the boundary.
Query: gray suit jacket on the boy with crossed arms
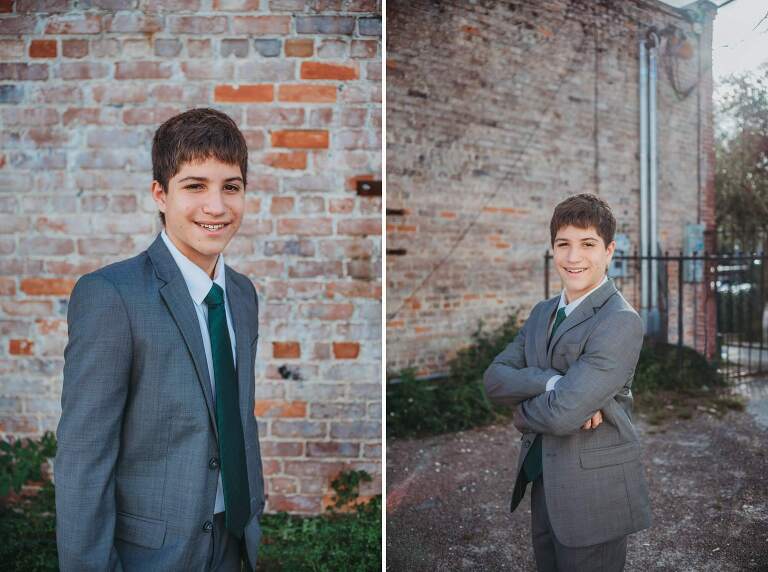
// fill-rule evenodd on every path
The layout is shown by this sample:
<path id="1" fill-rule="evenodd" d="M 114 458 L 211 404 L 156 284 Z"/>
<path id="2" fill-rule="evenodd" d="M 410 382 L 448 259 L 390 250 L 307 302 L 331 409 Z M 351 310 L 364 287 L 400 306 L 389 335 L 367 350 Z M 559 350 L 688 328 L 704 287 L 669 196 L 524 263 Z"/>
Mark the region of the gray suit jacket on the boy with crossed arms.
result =
<path id="1" fill-rule="evenodd" d="M 612 280 L 563 321 L 547 348 L 559 296 L 539 302 L 517 337 L 486 370 L 488 396 L 516 407 L 523 431 L 512 498 L 536 434 L 542 435 L 544 493 L 552 529 L 566 546 L 589 546 L 651 525 L 640 443 L 632 425 L 632 378 L 643 322 Z M 545 390 L 553 375 L 564 375 Z M 597 410 L 604 422 L 581 425 Z"/>

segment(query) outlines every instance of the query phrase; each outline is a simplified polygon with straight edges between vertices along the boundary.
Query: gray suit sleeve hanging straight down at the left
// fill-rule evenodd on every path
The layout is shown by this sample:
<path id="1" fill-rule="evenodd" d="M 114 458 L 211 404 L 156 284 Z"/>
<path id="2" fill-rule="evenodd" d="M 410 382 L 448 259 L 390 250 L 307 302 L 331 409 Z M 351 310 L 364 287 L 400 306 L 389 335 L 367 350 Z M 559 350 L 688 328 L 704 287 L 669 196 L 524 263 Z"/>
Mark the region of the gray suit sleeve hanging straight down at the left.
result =
<path id="1" fill-rule="evenodd" d="M 67 322 L 54 463 L 59 566 L 120 571 L 115 464 L 131 374 L 128 314 L 115 286 L 89 274 L 72 291 Z"/>

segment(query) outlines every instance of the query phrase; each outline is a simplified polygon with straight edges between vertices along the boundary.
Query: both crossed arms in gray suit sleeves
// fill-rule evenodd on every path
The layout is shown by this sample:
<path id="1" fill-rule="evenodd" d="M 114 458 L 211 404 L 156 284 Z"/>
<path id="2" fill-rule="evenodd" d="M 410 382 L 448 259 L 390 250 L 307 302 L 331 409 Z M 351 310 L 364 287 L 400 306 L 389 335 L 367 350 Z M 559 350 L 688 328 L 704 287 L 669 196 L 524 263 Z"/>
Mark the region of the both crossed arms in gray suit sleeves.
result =
<path id="1" fill-rule="evenodd" d="M 547 391 L 547 380 L 560 372 L 526 367 L 525 328 L 483 376 L 488 397 L 516 407 L 515 426 L 523 432 L 569 435 L 589 428 L 585 420 L 593 420 L 632 375 L 643 343 L 640 317 L 630 310 L 615 312 L 595 329 L 584 353 Z"/>

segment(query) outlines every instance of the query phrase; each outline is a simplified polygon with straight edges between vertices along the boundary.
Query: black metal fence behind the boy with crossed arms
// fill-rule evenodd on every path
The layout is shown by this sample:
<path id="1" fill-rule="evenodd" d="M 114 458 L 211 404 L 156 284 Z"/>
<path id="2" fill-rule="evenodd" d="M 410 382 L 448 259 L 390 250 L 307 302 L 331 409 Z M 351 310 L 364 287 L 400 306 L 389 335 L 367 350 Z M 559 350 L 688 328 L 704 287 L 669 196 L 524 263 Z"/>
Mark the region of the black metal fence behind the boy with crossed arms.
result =
<path id="1" fill-rule="evenodd" d="M 547 252 L 547 298 L 551 295 L 551 262 L 552 254 Z M 691 347 L 733 381 L 768 374 L 767 264 L 765 253 L 616 255 L 609 275 L 646 317 L 648 334 L 660 342 L 677 344 L 680 363 L 683 346 Z M 652 290 L 651 276 L 656 286 L 655 296 L 645 298 L 645 305 L 643 276 L 648 291 Z"/>

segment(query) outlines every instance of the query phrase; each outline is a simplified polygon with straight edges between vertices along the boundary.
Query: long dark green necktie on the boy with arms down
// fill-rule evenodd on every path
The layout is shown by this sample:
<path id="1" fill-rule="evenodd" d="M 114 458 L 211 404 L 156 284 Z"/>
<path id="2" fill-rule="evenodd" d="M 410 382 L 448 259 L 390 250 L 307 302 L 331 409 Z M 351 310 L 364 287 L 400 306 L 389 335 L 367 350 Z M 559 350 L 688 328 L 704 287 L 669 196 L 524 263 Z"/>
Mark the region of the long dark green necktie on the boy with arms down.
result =
<path id="1" fill-rule="evenodd" d="M 216 426 L 219 430 L 221 480 L 224 488 L 225 524 L 237 538 L 250 516 L 245 440 L 240 424 L 237 374 L 224 309 L 224 290 L 214 283 L 205 297 L 208 305 L 208 335 L 211 337 L 213 377 L 216 381 Z"/>

